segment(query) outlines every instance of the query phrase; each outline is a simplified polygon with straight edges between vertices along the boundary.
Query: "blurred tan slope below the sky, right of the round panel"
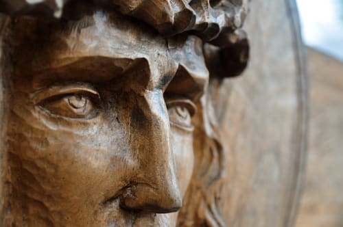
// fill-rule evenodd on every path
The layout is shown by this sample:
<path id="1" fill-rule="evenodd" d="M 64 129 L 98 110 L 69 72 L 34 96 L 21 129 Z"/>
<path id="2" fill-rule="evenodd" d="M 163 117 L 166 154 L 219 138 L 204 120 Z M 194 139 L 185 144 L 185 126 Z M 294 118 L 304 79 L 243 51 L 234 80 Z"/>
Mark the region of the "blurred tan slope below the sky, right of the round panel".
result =
<path id="1" fill-rule="evenodd" d="M 309 158 L 296 227 L 343 226 L 343 63 L 308 49 Z"/>

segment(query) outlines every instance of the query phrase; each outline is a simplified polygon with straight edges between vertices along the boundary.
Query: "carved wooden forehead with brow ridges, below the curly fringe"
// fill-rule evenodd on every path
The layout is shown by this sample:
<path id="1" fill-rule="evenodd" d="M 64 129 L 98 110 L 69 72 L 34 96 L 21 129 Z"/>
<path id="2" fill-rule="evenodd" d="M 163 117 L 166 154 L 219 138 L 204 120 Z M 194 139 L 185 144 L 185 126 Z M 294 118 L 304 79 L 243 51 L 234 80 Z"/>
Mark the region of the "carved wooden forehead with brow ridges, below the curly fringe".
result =
<path id="1" fill-rule="evenodd" d="M 137 76 L 147 77 L 149 88 L 161 81 L 167 83 L 180 68 L 198 88 L 204 87 L 209 77 L 200 39 L 167 40 L 150 27 L 114 12 L 95 12 L 79 21 L 19 18 L 12 25 L 11 37 L 15 39 L 11 42 L 14 58 L 21 66 L 17 74 L 30 74 L 36 84 L 54 75 L 106 80 L 132 68 Z"/>

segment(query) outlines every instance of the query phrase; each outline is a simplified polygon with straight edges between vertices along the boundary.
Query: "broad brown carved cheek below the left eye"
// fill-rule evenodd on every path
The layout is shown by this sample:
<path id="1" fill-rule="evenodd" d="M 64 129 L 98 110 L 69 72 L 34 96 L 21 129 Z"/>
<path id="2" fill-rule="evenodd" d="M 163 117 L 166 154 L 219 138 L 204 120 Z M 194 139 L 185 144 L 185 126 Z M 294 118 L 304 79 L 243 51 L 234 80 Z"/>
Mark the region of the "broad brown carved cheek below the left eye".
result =
<path id="1" fill-rule="evenodd" d="M 7 150 L 12 184 L 20 194 L 51 207 L 85 207 L 125 186 L 123 170 L 129 169 L 131 159 L 123 152 L 128 150 L 125 139 L 115 136 L 123 135 L 121 127 L 110 125 L 113 121 L 63 122 L 29 106 L 15 106 L 21 109 L 11 108 Z M 94 209 L 94 204 L 88 205 Z"/>

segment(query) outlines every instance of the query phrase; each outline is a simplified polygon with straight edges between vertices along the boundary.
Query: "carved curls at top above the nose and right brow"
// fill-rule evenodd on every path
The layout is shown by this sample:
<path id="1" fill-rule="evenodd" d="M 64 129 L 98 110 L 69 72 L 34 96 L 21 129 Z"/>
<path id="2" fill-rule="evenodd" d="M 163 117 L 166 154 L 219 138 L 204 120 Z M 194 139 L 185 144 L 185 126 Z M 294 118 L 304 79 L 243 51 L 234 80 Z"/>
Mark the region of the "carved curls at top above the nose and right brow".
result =
<path id="1" fill-rule="evenodd" d="M 204 40 L 241 27 L 247 12 L 245 0 L 119 0 L 115 4 L 123 14 L 145 21 L 165 36 L 194 31 Z"/>

